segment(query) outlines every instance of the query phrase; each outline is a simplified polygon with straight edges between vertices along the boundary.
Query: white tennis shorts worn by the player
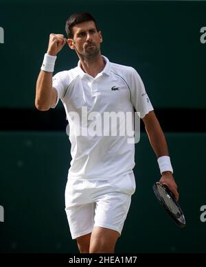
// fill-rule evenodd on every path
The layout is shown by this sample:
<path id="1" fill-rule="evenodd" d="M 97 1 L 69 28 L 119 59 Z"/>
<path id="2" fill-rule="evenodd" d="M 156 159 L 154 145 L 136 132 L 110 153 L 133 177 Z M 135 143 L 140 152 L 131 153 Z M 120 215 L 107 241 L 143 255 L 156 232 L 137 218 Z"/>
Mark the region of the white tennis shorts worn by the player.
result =
<path id="1" fill-rule="evenodd" d="M 108 180 L 69 178 L 65 211 L 72 239 L 91 233 L 93 227 L 113 229 L 121 235 L 135 192 L 133 172 Z"/>

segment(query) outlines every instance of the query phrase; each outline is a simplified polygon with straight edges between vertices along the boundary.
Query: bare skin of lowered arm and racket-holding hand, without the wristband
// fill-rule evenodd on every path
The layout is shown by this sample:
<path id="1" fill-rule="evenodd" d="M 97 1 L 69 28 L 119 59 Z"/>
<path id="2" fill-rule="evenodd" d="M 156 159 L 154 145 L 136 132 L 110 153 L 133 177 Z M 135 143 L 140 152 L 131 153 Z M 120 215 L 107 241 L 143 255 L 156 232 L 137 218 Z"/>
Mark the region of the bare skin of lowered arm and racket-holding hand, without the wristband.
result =
<path id="1" fill-rule="evenodd" d="M 168 145 L 165 139 L 165 135 L 163 134 L 163 130 L 159 124 L 159 121 L 155 115 L 154 111 L 150 111 L 144 118 L 144 125 L 146 128 L 146 132 L 148 134 L 148 138 L 150 140 L 150 144 L 157 155 L 157 158 L 161 156 L 168 156 Z M 169 189 L 174 194 L 176 200 L 179 199 L 179 193 L 177 191 L 177 185 L 174 181 L 174 177 L 172 172 L 165 171 L 162 172 L 160 183 L 164 183 L 168 185 Z"/>

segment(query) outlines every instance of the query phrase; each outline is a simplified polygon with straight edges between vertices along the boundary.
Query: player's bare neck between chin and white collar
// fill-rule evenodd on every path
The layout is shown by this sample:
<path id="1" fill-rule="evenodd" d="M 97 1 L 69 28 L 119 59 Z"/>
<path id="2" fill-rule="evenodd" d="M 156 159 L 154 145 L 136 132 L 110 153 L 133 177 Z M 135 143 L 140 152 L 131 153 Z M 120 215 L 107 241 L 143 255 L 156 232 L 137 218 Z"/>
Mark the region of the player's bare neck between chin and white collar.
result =
<path id="1" fill-rule="evenodd" d="M 79 56 L 79 58 L 83 71 L 93 78 L 104 69 L 106 64 L 101 54 L 98 54 L 95 58 L 83 58 L 82 56 Z"/>

